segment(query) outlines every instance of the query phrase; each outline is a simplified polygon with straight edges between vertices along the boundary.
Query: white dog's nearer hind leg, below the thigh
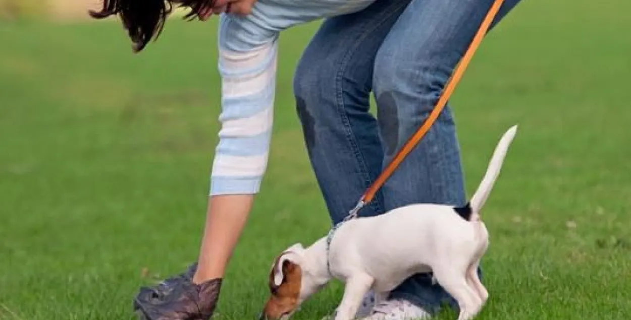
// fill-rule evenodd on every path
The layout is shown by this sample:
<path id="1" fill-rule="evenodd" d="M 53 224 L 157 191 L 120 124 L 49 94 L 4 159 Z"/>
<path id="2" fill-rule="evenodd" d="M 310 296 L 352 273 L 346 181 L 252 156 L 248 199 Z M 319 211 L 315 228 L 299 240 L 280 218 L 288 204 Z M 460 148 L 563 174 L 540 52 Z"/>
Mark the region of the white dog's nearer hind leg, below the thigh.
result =
<path id="1" fill-rule="evenodd" d="M 433 268 L 434 277 L 440 286 L 449 292 L 460 308 L 458 320 L 473 318 L 480 309 L 480 299 L 473 288 L 469 287 L 466 277 L 466 268 L 454 268 L 453 266 L 438 266 Z"/>

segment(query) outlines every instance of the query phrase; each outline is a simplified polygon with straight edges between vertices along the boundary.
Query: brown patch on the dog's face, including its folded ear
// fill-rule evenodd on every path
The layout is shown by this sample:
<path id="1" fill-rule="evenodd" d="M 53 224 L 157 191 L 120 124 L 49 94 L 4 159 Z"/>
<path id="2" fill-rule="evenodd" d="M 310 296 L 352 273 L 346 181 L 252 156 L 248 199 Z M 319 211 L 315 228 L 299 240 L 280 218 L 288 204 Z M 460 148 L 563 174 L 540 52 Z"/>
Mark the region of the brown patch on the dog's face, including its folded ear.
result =
<path id="1" fill-rule="evenodd" d="M 285 251 L 274 261 L 269 273 L 270 297 L 265 304 L 261 319 L 286 319 L 300 305 L 302 270 L 297 263 L 297 253 Z"/>

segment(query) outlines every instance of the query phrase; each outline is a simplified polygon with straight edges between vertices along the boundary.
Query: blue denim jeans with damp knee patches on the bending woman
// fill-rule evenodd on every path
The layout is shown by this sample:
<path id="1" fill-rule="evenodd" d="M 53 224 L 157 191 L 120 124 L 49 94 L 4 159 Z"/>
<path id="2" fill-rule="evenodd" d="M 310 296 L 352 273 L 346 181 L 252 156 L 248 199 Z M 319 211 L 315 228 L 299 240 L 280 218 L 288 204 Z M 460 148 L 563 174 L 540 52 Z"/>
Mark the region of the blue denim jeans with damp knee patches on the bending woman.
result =
<path id="1" fill-rule="evenodd" d="M 324 22 L 294 79 L 315 176 L 336 224 L 427 118 L 493 0 L 376 0 Z M 519 0 L 505 0 L 493 26 Z M 369 113 L 374 91 L 377 119 Z M 374 216 L 410 203 L 466 203 L 456 127 L 445 107 L 374 201 Z M 430 313 L 452 297 L 428 275 L 391 294 Z"/>

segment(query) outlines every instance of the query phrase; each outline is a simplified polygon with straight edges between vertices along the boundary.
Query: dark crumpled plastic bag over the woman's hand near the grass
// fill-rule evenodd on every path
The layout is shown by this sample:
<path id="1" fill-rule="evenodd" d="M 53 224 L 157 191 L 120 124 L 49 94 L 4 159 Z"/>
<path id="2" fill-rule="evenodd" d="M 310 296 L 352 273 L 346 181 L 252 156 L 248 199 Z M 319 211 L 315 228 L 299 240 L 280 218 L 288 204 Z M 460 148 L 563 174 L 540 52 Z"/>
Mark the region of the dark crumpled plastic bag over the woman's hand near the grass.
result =
<path id="1" fill-rule="evenodd" d="M 154 287 L 141 287 L 134 311 L 141 320 L 208 320 L 215 312 L 221 279 L 192 282 L 196 265 Z"/>

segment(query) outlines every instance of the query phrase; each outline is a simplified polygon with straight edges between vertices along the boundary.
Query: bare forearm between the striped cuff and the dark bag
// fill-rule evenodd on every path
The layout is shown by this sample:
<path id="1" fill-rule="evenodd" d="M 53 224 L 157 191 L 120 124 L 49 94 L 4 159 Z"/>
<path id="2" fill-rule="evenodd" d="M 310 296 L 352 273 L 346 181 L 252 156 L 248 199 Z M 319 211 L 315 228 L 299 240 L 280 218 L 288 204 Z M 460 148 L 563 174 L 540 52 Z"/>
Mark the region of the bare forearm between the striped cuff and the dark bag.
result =
<path id="1" fill-rule="evenodd" d="M 210 197 L 194 283 L 223 278 L 252 209 L 252 200 L 254 195 Z"/>

